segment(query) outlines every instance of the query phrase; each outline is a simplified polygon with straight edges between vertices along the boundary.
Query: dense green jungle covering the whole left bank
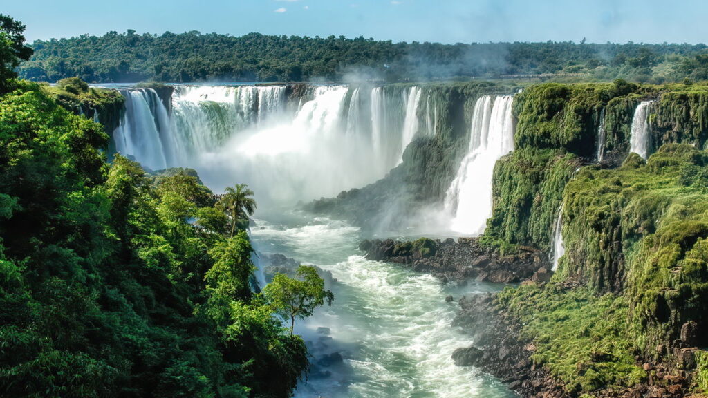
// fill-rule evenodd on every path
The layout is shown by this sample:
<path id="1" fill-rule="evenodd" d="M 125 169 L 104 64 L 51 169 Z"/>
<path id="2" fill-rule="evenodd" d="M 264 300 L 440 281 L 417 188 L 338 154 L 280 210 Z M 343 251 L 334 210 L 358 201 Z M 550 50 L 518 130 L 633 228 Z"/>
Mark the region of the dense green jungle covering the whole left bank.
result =
<path id="1" fill-rule="evenodd" d="M 12 79 L 16 59 L 0 64 L 0 396 L 289 396 L 308 358 L 282 302 L 331 292 L 316 275 L 271 288 L 280 302 L 255 292 L 253 193 L 108 164 L 103 125 L 75 113 L 122 97 Z"/>

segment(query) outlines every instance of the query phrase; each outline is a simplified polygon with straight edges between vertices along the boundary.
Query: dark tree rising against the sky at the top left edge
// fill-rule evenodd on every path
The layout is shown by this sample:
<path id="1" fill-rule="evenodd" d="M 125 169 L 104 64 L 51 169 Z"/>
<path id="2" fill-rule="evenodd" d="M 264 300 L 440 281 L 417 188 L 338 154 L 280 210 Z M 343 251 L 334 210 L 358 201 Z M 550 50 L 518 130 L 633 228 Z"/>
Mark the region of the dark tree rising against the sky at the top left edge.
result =
<path id="1" fill-rule="evenodd" d="M 17 77 L 15 68 L 32 56 L 32 49 L 24 45 L 25 25 L 0 14 L 0 93 L 9 89 L 11 79 Z"/>

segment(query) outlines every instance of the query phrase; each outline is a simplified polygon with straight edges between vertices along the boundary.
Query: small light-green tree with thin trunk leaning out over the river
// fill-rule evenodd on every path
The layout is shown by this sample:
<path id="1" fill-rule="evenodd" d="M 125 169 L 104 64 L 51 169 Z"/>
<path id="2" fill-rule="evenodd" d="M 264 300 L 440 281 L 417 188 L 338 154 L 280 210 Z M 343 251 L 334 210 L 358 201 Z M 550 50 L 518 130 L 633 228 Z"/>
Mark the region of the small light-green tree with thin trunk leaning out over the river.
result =
<path id="1" fill-rule="evenodd" d="M 314 266 L 299 266 L 297 276 L 292 279 L 282 273 L 275 274 L 273 281 L 263 288 L 263 295 L 283 317 L 290 317 L 290 335 L 295 328 L 295 318 L 305 319 L 317 307 L 326 302 L 332 305 L 334 295 L 325 290 L 324 280 L 317 275 Z"/>

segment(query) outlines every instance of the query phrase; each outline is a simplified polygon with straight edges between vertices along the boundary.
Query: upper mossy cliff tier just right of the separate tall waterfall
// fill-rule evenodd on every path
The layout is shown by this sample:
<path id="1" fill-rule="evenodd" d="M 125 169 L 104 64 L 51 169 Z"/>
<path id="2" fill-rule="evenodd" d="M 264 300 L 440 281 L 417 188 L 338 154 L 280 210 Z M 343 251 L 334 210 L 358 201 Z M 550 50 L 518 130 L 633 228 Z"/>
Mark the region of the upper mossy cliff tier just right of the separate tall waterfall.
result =
<path id="1" fill-rule="evenodd" d="M 651 104 L 650 151 L 684 142 L 704 147 L 708 87 L 615 84 L 541 84 L 514 101 L 516 151 L 498 161 L 491 241 L 549 249 L 564 187 L 587 164 L 617 167 L 629 152 L 634 110 Z M 603 159 L 597 157 L 603 127 Z"/>

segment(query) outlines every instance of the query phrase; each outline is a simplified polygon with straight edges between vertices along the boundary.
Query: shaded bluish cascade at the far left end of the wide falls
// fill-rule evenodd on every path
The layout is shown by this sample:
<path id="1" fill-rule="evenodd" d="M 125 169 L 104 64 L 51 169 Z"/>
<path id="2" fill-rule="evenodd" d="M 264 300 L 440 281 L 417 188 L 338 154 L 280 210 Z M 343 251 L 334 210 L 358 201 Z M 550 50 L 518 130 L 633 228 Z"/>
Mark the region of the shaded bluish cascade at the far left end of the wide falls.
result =
<path id="1" fill-rule="evenodd" d="M 122 91 L 125 114 L 113 132 L 115 148 L 134 157 L 143 166 L 159 170 L 167 166 L 164 136 L 160 127 L 169 126 L 167 110 L 152 89 Z"/>

